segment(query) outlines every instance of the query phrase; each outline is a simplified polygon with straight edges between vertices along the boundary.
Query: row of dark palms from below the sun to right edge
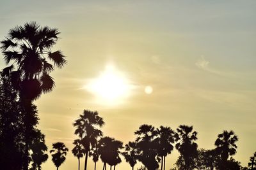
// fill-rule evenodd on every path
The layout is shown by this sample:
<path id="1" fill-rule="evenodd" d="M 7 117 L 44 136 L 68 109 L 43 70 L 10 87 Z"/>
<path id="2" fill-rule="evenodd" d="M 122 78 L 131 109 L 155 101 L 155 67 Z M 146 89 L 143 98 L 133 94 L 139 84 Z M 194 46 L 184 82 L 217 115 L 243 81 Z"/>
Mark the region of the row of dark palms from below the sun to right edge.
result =
<path id="1" fill-rule="evenodd" d="M 223 131 L 218 134 L 213 150 L 198 149 L 196 143 L 197 132 L 193 126 L 180 125 L 175 131 L 170 127 L 154 127 L 143 124 L 134 132 L 136 139 L 126 145 L 115 138 L 103 136 L 100 127 L 104 121 L 97 111 L 84 110 L 83 114 L 74 122 L 75 134 L 78 139 L 74 141 L 72 153 L 78 159 L 84 156 L 84 170 L 87 169 L 88 157 L 92 157 L 94 169 L 99 158 L 103 162 L 103 170 L 106 165 L 110 169 L 122 162 L 121 155 L 129 163 L 131 169 L 137 162 L 141 162 L 140 169 L 156 170 L 165 169 L 165 158 L 174 149 L 180 153 L 175 167 L 172 169 L 255 169 L 256 153 L 251 157 L 249 167 L 241 166 L 241 163 L 230 157 L 236 154 L 236 142 L 238 138 L 233 131 Z M 254 166 L 254 167 L 253 167 Z M 79 169 L 79 168 L 78 168 Z"/>

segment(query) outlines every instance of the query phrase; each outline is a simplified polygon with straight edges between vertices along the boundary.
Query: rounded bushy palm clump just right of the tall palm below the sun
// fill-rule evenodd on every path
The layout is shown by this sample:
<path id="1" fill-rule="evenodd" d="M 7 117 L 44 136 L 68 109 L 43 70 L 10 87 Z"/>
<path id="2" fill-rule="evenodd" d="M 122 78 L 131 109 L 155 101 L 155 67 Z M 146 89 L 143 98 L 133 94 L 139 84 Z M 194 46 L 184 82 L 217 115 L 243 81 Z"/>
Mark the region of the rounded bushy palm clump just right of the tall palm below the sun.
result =
<path id="1" fill-rule="evenodd" d="M 120 149 L 123 148 L 123 143 L 114 138 L 104 137 L 99 140 L 100 159 L 104 162 L 103 169 L 106 169 L 106 164 L 109 164 L 110 169 L 121 162 L 119 157 Z"/>

